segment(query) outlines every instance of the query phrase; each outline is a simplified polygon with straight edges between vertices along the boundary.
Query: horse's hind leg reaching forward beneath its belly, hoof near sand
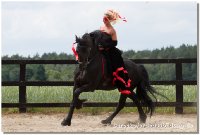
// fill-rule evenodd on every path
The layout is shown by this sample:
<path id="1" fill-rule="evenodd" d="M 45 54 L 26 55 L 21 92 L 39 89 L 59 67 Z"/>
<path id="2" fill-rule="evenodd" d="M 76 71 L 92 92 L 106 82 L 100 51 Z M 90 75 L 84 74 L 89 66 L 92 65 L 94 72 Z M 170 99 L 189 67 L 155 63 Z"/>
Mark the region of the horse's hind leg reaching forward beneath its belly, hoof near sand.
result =
<path id="1" fill-rule="evenodd" d="M 111 124 L 111 121 L 113 120 L 113 118 L 124 108 L 125 103 L 126 103 L 126 98 L 127 98 L 126 95 L 123 95 L 123 94 L 120 95 L 119 103 L 117 105 L 116 110 L 107 119 L 102 120 L 101 121 L 102 124 Z"/>

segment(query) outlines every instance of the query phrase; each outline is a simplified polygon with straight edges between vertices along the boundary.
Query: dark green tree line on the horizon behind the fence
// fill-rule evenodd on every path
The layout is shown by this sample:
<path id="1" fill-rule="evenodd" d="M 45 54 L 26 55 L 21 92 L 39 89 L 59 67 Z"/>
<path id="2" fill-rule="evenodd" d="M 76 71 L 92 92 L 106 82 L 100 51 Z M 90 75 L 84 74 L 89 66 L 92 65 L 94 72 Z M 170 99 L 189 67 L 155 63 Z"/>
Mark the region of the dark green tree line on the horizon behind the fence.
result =
<path id="1" fill-rule="evenodd" d="M 170 59 L 170 58 L 197 58 L 197 46 L 182 44 L 178 48 L 173 46 L 154 49 L 124 51 L 122 56 L 129 59 Z M 60 53 L 36 54 L 32 57 L 23 57 L 18 54 L 2 56 L 2 60 L 68 60 L 75 59 L 73 55 Z M 27 81 L 73 81 L 73 71 L 77 65 L 69 64 L 30 64 L 26 66 Z M 175 80 L 174 64 L 144 64 L 150 80 Z M 183 79 L 197 79 L 197 64 L 183 64 Z M 19 65 L 2 65 L 2 81 L 18 81 Z"/>

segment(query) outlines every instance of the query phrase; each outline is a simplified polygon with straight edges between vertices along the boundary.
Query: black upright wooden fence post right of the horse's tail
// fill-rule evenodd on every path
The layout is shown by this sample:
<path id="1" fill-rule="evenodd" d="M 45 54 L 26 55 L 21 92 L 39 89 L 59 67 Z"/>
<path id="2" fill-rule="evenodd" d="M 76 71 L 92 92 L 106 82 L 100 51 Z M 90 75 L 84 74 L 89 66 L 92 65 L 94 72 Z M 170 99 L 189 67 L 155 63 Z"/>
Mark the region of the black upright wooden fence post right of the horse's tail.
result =
<path id="1" fill-rule="evenodd" d="M 180 82 L 182 79 L 182 63 L 178 61 L 176 62 L 176 114 L 183 114 L 183 84 Z"/>

